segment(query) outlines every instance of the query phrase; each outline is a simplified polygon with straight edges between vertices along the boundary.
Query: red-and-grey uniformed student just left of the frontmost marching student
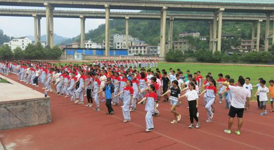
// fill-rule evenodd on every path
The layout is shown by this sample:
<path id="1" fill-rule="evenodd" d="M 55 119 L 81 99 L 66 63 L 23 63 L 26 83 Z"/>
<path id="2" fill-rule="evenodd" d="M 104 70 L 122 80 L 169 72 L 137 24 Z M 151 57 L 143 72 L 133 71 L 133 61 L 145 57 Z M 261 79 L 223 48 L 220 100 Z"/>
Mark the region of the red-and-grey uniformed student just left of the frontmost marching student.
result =
<path id="1" fill-rule="evenodd" d="M 124 123 L 131 121 L 129 107 L 130 107 L 130 103 L 133 102 L 133 93 L 134 93 L 134 90 L 132 87 L 132 82 L 130 80 L 127 80 L 126 87 L 124 87 L 124 89 L 120 93 L 115 95 L 115 98 L 116 98 L 119 95 L 123 94 L 122 112 L 124 116 Z"/>

